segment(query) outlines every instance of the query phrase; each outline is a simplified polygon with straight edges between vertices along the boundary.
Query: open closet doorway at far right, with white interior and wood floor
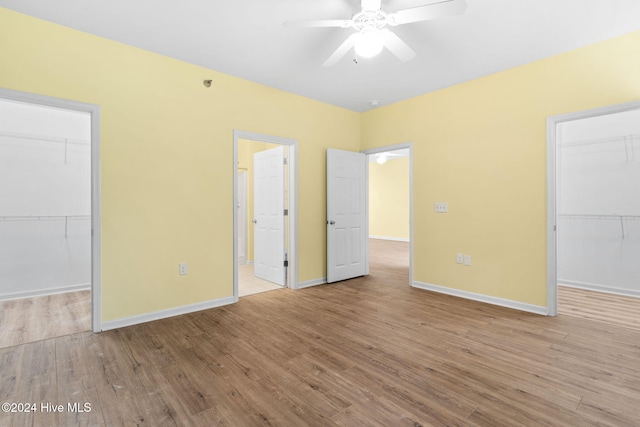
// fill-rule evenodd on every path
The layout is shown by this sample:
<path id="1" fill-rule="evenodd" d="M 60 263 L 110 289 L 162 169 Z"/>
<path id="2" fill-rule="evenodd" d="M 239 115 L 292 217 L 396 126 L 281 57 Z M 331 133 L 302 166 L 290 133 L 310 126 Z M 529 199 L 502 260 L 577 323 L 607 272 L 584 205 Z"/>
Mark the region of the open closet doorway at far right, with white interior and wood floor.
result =
<path id="1" fill-rule="evenodd" d="M 637 312 L 639 123 L 637 102 L 549 119 L 551 315 L 624 321 L 624 307 L 634 304 Z M 615 315 L 606 306 L 618 307 Z"/>

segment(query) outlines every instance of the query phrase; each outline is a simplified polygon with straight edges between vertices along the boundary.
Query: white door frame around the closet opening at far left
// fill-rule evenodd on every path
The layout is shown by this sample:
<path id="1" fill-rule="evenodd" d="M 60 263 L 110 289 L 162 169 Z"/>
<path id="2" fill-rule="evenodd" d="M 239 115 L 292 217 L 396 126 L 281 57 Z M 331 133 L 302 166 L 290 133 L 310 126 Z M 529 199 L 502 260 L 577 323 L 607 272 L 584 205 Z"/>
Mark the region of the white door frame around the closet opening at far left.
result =
<path id="1" fill-rule="evenodd" d="M 89 113 L 91 120 L 91 330 L 100 332 L 101 241 L 100 241 L 100 106 L 46 95 L 0 88 L 0 98 L 63 110 Z"/>

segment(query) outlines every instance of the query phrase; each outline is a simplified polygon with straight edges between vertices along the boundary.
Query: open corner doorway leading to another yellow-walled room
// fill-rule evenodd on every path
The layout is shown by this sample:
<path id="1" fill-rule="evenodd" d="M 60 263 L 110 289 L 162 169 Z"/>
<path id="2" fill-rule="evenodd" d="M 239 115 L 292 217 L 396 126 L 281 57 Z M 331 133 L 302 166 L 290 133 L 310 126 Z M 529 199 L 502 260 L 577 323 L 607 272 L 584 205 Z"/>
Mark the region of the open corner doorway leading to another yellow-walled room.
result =
<path id="1" fill-rule="evenodd" d="M 367 154 L 370 274 L 413 285 L 412 148 L 398 144 Z"/>

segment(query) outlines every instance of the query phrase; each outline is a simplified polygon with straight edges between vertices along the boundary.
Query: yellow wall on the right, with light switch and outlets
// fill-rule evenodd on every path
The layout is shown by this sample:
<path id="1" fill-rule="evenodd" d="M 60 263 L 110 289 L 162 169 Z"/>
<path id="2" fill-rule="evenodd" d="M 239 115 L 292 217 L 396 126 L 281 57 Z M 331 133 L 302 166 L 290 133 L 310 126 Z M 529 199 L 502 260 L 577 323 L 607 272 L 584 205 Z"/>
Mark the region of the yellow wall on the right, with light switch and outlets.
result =
<path id="1" fill-rule="evenodd" d="M 640 99 L 639 52 L 636 32 L 362 115 L 364 148 L 414 144 L 417 281 L 546 306 L 546 118 Z"/>

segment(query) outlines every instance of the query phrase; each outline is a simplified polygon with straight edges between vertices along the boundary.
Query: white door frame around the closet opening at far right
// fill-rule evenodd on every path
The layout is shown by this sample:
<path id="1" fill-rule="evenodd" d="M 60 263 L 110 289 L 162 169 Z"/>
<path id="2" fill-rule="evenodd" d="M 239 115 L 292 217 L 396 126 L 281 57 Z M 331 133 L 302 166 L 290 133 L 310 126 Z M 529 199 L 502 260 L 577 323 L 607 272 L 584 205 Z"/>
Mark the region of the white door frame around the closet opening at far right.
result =
<path id="1" fill-rule="evenodd" d="M 559 114 L 547 118 L 547 316 L 558 315 L 558 125 L 640 109 L 640 101 Z"/>

